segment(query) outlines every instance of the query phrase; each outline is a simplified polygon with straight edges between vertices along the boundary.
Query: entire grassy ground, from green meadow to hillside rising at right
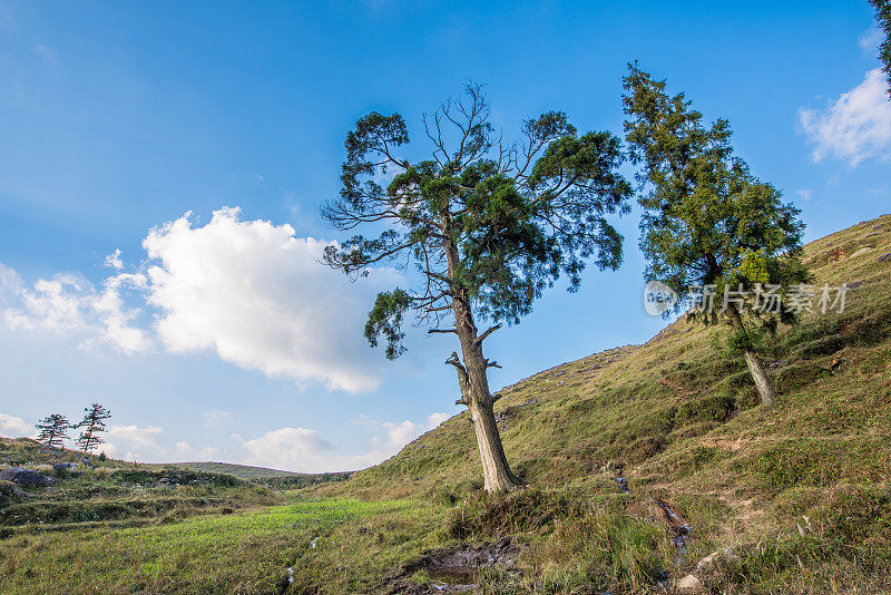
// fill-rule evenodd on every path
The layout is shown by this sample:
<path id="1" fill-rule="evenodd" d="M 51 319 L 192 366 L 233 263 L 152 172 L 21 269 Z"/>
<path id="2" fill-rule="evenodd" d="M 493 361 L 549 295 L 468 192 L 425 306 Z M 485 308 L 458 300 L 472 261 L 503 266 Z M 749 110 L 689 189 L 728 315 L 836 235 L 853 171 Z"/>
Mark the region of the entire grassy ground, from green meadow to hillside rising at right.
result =
<path id="1" fill-rule="evenodd" d="M 0 518 L 0 592 L 421 594 L 472 583 L 490 594 L 887 593 L 889 253 L 891 215 L 806 246 L 816 284 L 852 289 L 844 313 L 762 338 L 780 392 L 770 410 L 726 329 L 681 320 L 644 345 L 501 392 L 505 447 L 526 489 L 479 491 L 466 413 L 382 465 L 301 490 L 232 476 L 218 477 L 233 486 L 170 489 L 112 468 L 0 510 L 60 494 L 87 504 L 249 497 L 241 509 L 149 514 L 124 529 Z"/>

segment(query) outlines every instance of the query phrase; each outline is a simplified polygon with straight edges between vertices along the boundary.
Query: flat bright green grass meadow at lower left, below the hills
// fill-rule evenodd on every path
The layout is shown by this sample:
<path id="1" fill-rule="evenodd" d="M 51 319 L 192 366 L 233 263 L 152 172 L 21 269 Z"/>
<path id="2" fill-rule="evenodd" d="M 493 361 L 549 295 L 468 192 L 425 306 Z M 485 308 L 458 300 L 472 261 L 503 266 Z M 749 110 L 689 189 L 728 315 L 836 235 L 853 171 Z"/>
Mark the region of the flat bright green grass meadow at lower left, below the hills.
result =
<path id="1" fill-rule="evenodd" d="M 412 501 L 331 499 L 147 527 L 19 535 L 0 542 L 0 593 L 272 593 L 283 588 L 288 566 L 304 585 L 329 583 L 340 526 L 421 523 L 429 518 Z M 370 576 L 352 569 L 337 581 Z"/>

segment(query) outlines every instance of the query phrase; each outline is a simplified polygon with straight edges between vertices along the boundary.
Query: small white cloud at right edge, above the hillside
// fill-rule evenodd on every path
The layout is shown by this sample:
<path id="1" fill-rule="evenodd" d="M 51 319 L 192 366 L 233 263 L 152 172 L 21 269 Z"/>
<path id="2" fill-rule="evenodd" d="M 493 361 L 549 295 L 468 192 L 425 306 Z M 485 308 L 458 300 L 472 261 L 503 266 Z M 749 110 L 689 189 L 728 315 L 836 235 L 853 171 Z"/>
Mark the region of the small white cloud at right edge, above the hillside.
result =
<path id="1" fill-rule="evenodd" d="M 799 121 L 814 145 L 815 162 L 831 156 L 854 167 L 870 157 L 891 157 L 891 103 L 878 68 L 825 109 L 800 109 Z"/>

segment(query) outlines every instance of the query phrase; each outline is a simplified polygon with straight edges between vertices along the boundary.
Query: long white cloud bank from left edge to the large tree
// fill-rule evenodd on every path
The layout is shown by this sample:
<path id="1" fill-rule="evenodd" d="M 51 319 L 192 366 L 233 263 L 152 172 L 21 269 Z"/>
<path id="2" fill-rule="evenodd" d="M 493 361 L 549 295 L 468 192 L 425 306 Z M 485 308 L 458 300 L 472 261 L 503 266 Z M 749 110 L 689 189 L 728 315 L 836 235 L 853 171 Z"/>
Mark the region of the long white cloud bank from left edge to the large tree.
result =
<path id="1" fill-rule="evenodd" d="M 331 242 L 297 237 L 291 225 L 241 221 L 214 212 L 204 226 L 190 214 L 153 228 L 139 271 L 121 253 L 104 259 L 115 273 L 99 287 L 76 273 L 26 284 L 0 264 L 0 319 L 13 330 L 72 338 L 81 348 L 110 344 L 126 353 L 163 347 L 208 350 L 242 368 L 330 390 L 376 389 L 384 364 L 361 335 L 392 269 L 351 282 L 320 261 Z M 154 326 L 141 320 L 154 314 Z M 210 420 L 217 423 L 219 420 Z"/>

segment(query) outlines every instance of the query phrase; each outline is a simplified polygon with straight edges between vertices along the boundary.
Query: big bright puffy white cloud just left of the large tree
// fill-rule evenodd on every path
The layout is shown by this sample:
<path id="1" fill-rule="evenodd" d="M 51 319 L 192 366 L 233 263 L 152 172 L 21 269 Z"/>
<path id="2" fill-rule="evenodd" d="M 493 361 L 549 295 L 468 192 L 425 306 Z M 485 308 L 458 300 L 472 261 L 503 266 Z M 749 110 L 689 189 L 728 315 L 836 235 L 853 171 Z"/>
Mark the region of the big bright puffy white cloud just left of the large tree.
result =
<path id="1" fill-rule="evenodd" d="M 186 214 L 144 241 L 153 260 L 148 301 L 161 311 L 157 331 L 167 349 L 214 350 L 243 368 L 329 389 L 375 389 L 381 355 L 360 330 L 395 273 L 351 283 L 319 262 L 330 243 L 238 215 L 221 208 L 195 227 Z"/>

